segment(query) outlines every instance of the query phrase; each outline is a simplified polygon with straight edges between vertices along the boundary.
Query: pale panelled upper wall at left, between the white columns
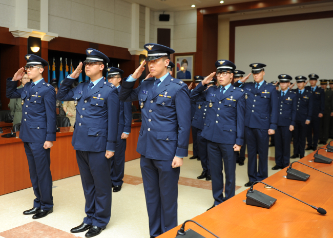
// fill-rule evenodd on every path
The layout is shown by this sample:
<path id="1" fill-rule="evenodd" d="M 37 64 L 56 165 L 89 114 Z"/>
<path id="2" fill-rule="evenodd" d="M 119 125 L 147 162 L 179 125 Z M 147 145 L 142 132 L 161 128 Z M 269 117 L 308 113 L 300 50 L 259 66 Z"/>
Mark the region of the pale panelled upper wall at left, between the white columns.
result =
<path id="1" fill-rule="evenodd" d="M 49 31 L 131 48 L 131 4 L 121 0 L 49 0 Z"/>

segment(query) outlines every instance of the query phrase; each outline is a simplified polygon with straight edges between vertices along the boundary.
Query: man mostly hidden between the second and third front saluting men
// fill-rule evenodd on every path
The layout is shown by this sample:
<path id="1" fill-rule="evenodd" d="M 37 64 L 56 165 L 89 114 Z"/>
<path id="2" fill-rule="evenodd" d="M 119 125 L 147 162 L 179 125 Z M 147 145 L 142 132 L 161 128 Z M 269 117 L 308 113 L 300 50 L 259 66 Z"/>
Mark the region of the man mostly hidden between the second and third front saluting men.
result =
<path id="1" fill-rule="evenodd" d="M 121 89 L 121 78 L 124 73 L 121 69 L 108 67 L 108 81 L 118 89 Z M 113 192 L 119 192 L 123 184 L 125 169 L 126 139 L 129 137 L 132 125 L 132 104 L 131 102 L 120 101 L 119 126 L 117 135 L 117 145 L 114 155 L 111 157 L 111 180 Z"/>

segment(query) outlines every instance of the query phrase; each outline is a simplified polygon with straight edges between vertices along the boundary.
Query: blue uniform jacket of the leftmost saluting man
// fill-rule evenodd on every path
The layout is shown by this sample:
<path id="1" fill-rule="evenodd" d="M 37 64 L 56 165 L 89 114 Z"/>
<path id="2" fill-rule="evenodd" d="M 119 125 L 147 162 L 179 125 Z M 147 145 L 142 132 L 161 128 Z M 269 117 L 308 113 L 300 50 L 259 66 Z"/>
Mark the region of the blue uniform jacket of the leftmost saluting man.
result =
<path id="1" fill-rule="evenodd" d="M 31 82 L 16 89 L 17 82 L 11 80 L 12 78 L 7 78 L 6 96 L 20 98 L 24 102 L 19 138 L 29 143 L 55 141 L 56 100 L 53 86 L 42 80 L 32 89 Z"/>

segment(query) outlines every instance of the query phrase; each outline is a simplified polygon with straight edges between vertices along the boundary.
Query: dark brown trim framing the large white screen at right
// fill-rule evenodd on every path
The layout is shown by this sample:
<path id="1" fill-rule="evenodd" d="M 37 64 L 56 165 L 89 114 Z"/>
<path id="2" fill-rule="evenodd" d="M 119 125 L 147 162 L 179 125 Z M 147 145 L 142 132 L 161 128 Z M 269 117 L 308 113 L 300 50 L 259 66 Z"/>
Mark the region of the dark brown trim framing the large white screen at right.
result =
<path id="1" fill-rule="evenodd" d="M 229 60 L 232 62 L 235 62 L 236 27 L 269 24 L 269 23 L 295 22 L 295 21 L 304 21 L 304 20 L 330 18 L 330 17 L 333 17 L 333 11 L 294 14 L 294 15 L 286 15 L 286 16 L 273 16 L 273 17 L 256 18 L 256 19 L 248 19 L 248 20 L 230 22 Z"/>

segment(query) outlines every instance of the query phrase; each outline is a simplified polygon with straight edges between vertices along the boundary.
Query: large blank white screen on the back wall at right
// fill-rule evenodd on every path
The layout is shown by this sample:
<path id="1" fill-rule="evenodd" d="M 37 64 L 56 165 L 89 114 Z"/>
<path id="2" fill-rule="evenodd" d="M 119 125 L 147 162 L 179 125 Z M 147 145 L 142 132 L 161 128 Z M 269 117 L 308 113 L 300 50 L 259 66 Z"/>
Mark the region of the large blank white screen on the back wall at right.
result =
<path id="1" fill-rule="evenodd" d="M 249 64 L 266 64 L 267 82 L 282 73 L 331 79 L 332 29 L 333 18 L 236 27 L 235 64 L 246 73 Z"/>

